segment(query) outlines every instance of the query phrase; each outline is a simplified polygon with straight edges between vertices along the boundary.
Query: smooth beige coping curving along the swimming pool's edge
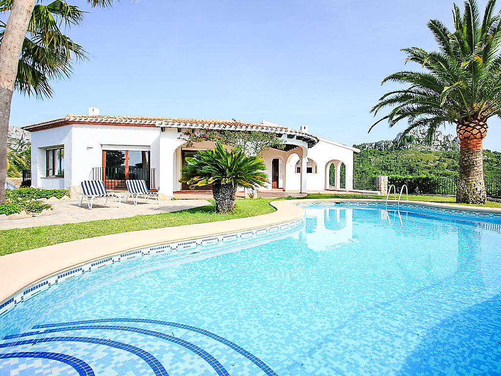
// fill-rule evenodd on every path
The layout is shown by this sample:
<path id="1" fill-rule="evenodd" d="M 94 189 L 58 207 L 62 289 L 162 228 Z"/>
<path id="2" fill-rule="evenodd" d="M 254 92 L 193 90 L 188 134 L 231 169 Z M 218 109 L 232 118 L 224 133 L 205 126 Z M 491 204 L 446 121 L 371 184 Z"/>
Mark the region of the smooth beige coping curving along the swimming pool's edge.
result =
<path id="1" fill-rule="evenodd" d="M 305 215 L 304 209 L 296 204 L 316 202 L 384 203 L 386 200 L 370 198 L 279 200 L 270 203 L 277 209 L 276 212 L 260 216 L 104 235 L 0 256 L 0 271 L 2 271 L 0 273 L 0 304 L 38 281 L 95 260 L 155 245 L 256 230 L 295 221 Z M 388 203 L 396 204 L 397 201 L 388 200 Z M 404 200 L 400 203 L 464 212 L 501 214 L 501 208 Z M 51 262 L 48 263 L 48 260 Z"/>

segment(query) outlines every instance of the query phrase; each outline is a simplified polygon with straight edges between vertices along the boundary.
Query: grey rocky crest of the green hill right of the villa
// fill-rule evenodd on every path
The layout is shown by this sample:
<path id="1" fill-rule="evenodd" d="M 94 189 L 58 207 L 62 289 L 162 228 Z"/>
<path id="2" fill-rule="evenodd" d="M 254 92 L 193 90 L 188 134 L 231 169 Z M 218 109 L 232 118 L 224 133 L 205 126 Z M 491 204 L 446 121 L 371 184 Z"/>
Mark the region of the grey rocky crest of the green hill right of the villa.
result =
<path id="1" fill-rule="evenodd" d="M 431 142 L 426 140 L 426 130 L 413 129 L 407 135 L 398 133 L 394 140 L 369 142 L 355 145 L 361 150 L 422 150 L 422 151 L 458 151 L 459 139 L 451 134 L 435 132 Z"/>

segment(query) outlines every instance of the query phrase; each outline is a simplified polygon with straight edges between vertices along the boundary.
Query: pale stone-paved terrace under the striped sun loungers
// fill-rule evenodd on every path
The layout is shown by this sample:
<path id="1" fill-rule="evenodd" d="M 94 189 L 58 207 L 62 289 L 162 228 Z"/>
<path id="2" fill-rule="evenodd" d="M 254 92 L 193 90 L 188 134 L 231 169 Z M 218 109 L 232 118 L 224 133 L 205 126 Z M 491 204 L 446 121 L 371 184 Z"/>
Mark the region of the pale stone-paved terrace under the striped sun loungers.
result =
<path id="1" fill-rule="evenodd" d="M 0 221 L 0 230 L 24 229 L 28 227 L 62 225 L 65 223 L 89 222 L 177 212 L 179 210 L 198 208 L 210 204 L 206 200 L 165 200 L 161 201 L 160 205 L 158 205 L 151 199 L 148 200 L 147 204 L 144 203 L 144 200 L 141 202 L 141 199 L 139 199 L 137 205 L 133 205 L 132 201 L 129 200 L 128 203 L 122 202 L 120 208 L 117 208 L 113 199 L 109 199 L 106 206 L 103 205 L 103 201 L 99 199 L 94 201 L 94 207 L 92 210 L 89 210 L 87 209 L 85 200 L 82 207 L 78 206 L 78 201 L 76 200 L 50 201 L 48 203 L 53 207 L 52 214 L 40 217 Z"/>

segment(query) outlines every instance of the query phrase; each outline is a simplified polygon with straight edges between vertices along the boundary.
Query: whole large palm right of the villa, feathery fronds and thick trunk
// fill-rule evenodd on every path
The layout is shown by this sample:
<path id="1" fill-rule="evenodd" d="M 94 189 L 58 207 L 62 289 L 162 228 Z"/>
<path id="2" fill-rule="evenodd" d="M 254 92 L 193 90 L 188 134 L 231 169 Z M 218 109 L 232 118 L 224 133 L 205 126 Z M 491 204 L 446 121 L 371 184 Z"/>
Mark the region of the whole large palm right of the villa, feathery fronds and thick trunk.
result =
<path id="1" fill-rule="evenodd" d="M 489 0 L 480 19 L 475 0 L 464 3 L 464 13 L 454 4 L 454 31 L 432 20 L 438 52 L 408 48 L 408 58 L 423 71 L 394 73 L 383 80 L 409 87 L 385 94 L 371 112 L 383 107 L 390 113 L 377 121 L 388 120 L 392 127 L 407 119 L 404 133 L 427 128 L 428 137 L 446 123 L 453 124 L 460 140 L 459 180 L 456 202 L 485 204 L 482 140 L 487 134 L 487 119 L 501 117 L 501 18 L 494 16 L 495 0 Z M 372 129 L 374 127 L 370 129 Z M 369 131 L 370 131 L 369 129 Z"/>

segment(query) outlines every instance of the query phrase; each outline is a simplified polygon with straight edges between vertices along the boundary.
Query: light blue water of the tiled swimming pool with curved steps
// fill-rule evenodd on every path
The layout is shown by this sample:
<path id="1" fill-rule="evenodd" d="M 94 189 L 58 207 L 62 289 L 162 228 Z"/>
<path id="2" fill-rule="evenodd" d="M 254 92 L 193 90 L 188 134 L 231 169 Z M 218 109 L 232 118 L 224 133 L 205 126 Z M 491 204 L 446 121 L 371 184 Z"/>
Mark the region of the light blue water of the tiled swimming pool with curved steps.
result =
<path id="1" fill-rule="evenodd" d="M 499 220 L 307 208 L 299 230 L 193 254 L 8 311 L 0 374 L 501 374 Z"/>

